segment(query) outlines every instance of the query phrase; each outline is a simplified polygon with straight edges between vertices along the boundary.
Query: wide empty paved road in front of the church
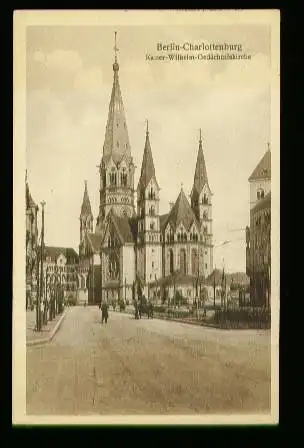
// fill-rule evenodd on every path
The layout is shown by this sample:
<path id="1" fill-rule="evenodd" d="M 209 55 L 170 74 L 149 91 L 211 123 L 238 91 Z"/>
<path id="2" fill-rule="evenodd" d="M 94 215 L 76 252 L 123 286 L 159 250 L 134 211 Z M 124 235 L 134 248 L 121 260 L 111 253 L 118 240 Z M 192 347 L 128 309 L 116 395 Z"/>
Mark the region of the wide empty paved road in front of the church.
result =
<path id="1" fill-rule="evenodd" d="M 270 334 L 74 307 L 27 348 L 28 414 L 269 412 Z"/>

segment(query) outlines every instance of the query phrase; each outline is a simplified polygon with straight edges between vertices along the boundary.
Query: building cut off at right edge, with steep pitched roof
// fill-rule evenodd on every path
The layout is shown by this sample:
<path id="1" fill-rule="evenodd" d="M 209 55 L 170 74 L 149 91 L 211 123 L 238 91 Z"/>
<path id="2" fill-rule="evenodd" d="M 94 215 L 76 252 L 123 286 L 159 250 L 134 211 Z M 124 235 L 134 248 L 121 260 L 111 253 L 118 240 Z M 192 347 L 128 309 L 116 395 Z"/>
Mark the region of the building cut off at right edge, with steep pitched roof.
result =
<path id="1" fill-rule="evenodd" d="M 270 307 L 271 297 L 271 151 L 249 177 L 250 228 L 246 229 L 246 273 L 253 305 Z"/>

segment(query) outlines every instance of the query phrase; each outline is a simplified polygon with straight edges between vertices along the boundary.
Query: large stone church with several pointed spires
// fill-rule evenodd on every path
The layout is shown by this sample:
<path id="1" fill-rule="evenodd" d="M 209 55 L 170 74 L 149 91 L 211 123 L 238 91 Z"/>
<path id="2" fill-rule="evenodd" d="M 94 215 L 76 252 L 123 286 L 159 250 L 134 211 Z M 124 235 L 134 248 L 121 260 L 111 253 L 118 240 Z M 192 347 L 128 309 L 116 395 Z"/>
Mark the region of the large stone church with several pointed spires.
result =
<path id="1" fill-rule="evenodd" d="M 181 188 L 168 213 L 160 214 L 160 186 L 147 123 L 141 173 L 134 185 L 126 114 L 115 54 L 114 80 L 103 153 L 99 165 L 99 210 L 93 214 L 85 184 L 80 213 L 80 266 L 89 269 L 89 303 L 102 298 L 132 300 L 138 288 L 166 300 L 174 291 L 188 294 L 213 270 L 212 192 L 202 137 L 194 170 L 190 202 Z M 164 285 L 164 287 L 162 287 Z M 189 293 L 190 294 L 190 293 Z"/>

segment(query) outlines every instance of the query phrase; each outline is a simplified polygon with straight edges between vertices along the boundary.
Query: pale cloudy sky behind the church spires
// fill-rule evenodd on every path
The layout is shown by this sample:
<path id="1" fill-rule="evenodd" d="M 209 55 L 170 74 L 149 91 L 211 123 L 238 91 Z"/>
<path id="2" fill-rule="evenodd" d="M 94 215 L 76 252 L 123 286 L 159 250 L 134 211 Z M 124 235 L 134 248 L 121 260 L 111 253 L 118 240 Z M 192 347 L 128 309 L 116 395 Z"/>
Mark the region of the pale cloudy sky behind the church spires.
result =
<path id="1" fill-rule="evenodd" d="M 199 129 L 213 193 L 214 264 L 246 269 L 248 177 L 270 141 L 270 28 L 235 26 L 29 26 L 26 40 L 26 165 L 33 199 L 45 206 L 47 245 L 79 244 L 84 180 L 96 220 L 113 82 L 114 31 L 135 187 L 146 120 L 160 213 L 190 195 Z M 251 60 L 148 61 L 157 43 L 237 43 Z M 241 230 L 240 230 L 241 229 Z M 231 241 L 221 246 L 223 241 Z M 224 260 L 224 262 L 223 262 Z"/>

